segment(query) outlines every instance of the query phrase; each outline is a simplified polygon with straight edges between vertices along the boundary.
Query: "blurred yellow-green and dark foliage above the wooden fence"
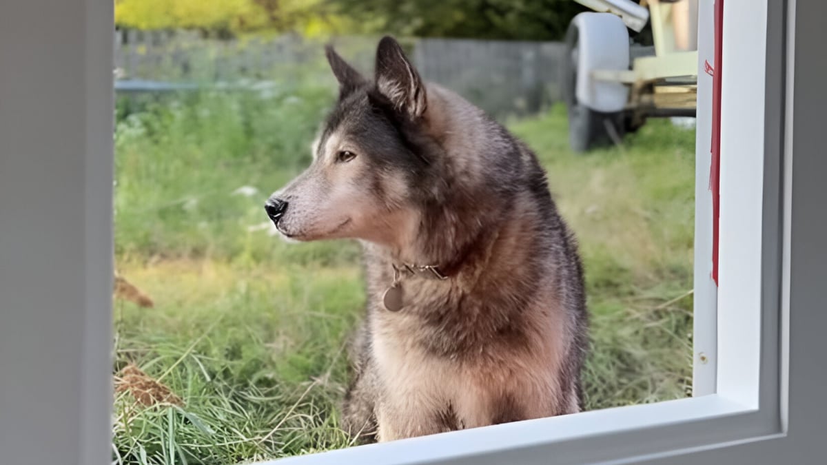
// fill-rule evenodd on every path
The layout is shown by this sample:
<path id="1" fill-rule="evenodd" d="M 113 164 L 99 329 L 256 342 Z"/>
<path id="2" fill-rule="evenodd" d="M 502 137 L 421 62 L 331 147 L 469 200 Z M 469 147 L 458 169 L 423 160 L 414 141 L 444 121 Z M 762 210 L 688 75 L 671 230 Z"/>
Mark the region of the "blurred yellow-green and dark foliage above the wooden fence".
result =
<path id="1" fill-rule="evenodd" d="M 585 10 L 571 0 L 116 0 L 115 22 L 219 36 L 295 31 L 551 41 Z"/>

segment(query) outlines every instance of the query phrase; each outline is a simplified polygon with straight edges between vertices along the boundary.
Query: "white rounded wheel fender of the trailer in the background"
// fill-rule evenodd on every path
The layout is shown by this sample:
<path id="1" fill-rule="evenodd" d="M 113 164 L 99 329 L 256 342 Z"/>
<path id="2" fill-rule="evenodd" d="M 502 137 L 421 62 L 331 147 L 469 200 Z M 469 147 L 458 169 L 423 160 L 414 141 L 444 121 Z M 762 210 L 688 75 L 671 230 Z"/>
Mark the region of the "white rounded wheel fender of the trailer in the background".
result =
<path id="1" fill-rule="evenodd" d="M 622 110 L 629 87 L 591 77 L 592 70 L 629 70 L 629 31 L 620 17 L 611 13 L 580 13 L 573 20 L 578 31 L 578 102 L 598 112 Z"/>

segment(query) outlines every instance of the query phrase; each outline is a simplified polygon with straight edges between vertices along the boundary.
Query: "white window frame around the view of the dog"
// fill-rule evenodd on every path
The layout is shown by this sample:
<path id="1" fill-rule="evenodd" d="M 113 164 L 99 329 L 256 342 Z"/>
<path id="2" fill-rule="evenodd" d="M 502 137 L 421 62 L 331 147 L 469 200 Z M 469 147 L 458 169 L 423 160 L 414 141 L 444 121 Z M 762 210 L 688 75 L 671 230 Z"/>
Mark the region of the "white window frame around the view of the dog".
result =
<path id="1" fill-rule="evenodd" d="M 824 17 L 725 3 L 715 394 L 280 463 L 823 461 Z M 111 1 L 0 4 L 3 463 L 110 462 L 111 37 Z"/>

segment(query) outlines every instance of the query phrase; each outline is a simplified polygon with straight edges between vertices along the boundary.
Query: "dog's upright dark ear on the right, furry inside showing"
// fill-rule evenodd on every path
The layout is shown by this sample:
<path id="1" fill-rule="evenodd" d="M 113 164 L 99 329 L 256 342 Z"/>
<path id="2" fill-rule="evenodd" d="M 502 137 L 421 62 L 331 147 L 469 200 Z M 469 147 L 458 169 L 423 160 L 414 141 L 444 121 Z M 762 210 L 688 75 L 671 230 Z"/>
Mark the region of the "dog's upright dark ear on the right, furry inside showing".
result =
<path id="1" fill-rule="evenodd" d="M 425 113 L 425 86 L 393 37 L 385 36 L 379 42 L 375 73 L 376 89 L 390 99 L 394 108 L 414 118 Z"/>

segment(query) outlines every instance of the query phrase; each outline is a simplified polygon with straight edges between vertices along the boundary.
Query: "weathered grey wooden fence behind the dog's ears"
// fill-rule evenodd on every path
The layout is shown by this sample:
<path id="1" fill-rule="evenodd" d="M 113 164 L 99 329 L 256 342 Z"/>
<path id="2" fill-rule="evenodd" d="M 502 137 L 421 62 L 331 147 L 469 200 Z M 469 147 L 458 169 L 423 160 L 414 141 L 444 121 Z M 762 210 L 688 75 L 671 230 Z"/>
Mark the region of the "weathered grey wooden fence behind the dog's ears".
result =
<path id="1" fill-rule="evenodd" d="M 366 74 L 372 72 L 377 42 L 377 37 L 334 40 L 340 54 Z M 535 113 L 561 98 L 560 43 L 402 43 L 424 79 L 453 89 L 491 113 Z M 322 44 L 299 36 L 218 41 L 182 31 L 117 31 L 114 49 L 118 89 L 155 92 L 245 80 L 332 84 Z"/>

